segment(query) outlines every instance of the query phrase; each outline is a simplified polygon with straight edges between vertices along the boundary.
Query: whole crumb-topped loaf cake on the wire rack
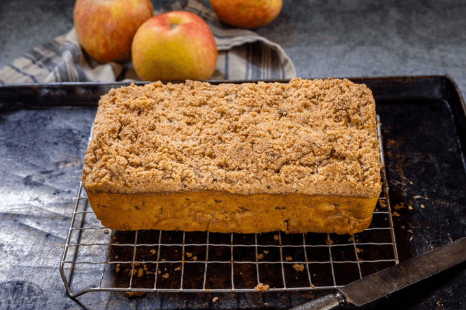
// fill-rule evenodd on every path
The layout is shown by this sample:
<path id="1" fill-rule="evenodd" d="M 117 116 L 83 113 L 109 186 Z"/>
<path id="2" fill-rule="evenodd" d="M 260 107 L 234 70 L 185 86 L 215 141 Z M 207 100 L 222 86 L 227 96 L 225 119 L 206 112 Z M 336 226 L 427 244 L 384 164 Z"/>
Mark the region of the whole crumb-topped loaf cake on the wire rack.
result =
<path id="1" fill-rule="evenodd" d="M 82 183 L 110 229 L 356 233 L 381 189 L 375 101 L 330 78 L 112 89 Z"/>

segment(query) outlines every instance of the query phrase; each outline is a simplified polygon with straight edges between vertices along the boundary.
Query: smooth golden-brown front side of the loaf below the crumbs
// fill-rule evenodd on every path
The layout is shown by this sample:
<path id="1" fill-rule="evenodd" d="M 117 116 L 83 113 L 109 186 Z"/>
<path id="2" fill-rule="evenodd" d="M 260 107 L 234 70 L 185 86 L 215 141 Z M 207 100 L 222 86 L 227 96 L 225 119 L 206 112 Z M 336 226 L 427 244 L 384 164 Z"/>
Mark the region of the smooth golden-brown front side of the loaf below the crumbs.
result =
<path id="1" fill-rule="evenodd" d="M 88 192 L 90 205 L 110 229 L 215 233 L 358 233 L 366 229 L 378 197 L 249 196 L 225 192 L 112 194 Z"/>

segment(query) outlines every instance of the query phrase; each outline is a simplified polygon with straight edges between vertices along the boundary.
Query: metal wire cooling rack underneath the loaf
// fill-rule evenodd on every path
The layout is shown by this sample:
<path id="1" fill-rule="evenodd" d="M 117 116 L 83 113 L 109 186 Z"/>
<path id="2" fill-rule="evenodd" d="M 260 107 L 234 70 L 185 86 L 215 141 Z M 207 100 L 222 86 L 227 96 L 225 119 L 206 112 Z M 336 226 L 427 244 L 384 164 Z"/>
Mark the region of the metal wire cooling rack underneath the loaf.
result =
<path id="1" fill-rule="evenodd" d="M 66 293 L 332 289 L 397 264 L 377 120 L 383 188 L 362 233 L 112 231 L 80 184 L 60 262 Z"/>

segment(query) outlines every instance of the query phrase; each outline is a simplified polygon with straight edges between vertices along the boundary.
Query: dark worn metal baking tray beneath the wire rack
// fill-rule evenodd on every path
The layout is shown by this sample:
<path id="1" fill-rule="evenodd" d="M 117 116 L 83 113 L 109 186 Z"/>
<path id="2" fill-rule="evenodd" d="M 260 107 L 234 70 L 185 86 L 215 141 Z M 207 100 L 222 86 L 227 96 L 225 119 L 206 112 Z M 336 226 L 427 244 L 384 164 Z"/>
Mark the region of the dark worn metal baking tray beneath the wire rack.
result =
<path id="1" fill-rule="evenodd" d="M 454 83 L 447 77 L 354 80 L 376 96 L 400 260 L 466 235 L 466 116 Z M 35 87 L 0 87 L 0 309 L 286 309 L 321 294 L 128 298 L 99 292 L 71 300 L 58 266 L 97 110 L 86 98 L 106 86 Z M 219 301 L 212 302 L 215 296 Z M 368 309 L 466 309 L 465 296 L 463 263 Z"/>

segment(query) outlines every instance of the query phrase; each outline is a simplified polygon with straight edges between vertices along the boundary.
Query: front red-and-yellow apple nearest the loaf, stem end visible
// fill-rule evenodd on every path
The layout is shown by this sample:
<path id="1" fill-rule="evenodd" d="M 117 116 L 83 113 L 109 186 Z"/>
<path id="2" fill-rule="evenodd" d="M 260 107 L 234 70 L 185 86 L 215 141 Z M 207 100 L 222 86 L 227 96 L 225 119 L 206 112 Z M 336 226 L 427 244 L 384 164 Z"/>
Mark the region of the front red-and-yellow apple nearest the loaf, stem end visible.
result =
<path id="1" fill-rule="evenodd" d="M 132 44 L 134 70 L 145 81 L 208 79 L 217 66 L 217 55 L 206 22 L 186 11 L 145 21 Z"/>

